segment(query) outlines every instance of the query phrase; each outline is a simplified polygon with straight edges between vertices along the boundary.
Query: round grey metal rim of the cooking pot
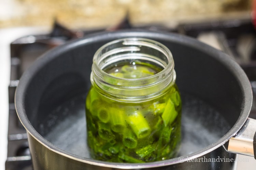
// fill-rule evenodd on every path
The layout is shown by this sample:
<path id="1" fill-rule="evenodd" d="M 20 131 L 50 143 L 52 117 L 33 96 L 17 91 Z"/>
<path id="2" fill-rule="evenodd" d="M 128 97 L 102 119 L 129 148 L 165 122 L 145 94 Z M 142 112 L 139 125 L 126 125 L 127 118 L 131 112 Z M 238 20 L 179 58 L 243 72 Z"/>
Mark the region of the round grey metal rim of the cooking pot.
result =
<path id="1" fill-rule="evenodd" d="M 223 137 L 218 139 L 216 142 L 212 143 L 211 145 L 191 154 L 184 155 L 182 157 L 176 157 L 167 160 L 161 160 L 157 162 L 151 163 L 109 163 L 89 158 L 84 158 L 81 156 L 74 155 L 69 153 L 65 150 L 62 150 L 56 146 L 54 146 L 51 142 L 47 141 L 44 137 L 42 137 L 31 125 L 30 121 L 26 116 L 25 111 L 25 95 L 26 90 L 28 88 L 29 82 L 32 80 L 34 74 L 38 72 L 45 64 L 54 60 L 54 58 L 58 57 L 59 54 L 65 53 L 66 51 L 76 48 L 77 46 L 82 46 L 86 44 L 90 44 L 93 42 L 101 41 L 101 40 L 108 40 L 124 38 L 124 37 L 146 37 L 149 39 L 161 39 L 167 41 L 175 41 L 175 43 L 185 44 L 186 46 L 193 47 L 199 49 L 200 51 L 204 51 L 210 53 L 211 56 L 215 57 L 216 60 L 224 64 L 238 79 L 241 89 L 243 90 L 244 95 L 244 107 L 242 108 L 242 112 L 237 120 L 237 122 L 233 125 L 233 127 L 227 132 Z M 84 38 L 76 39 L 70 41 L 67 44 L 58 46 L 52 50 L 49 50 L 41 57 L 38 58 L 37 61 L 33 63 L 33 65 L 28 68 L 25 73 L 20 78 L 19 84 L 16 88 L 15 92 L 15 108 L 17 115 L 22 122 L 23 126 L 25 127 L 27 133 L 31 135 L 34 139 L 40 142 L 43 146 L 48 148 L 49 150 L 56 152 L 62 156 L 68 157 L 70 159 L 77 160 L 79 162 L 83 162 L 86 164 L 101 166 L 101 167 L 109 167 L 109 168 L 121 168 L 121 169 L 137 169 L 137 168 L 152 168 L 152 167 L 161 167 L 161 166 L 168 166 L 178 163 L 183 163 L 191 159 L 195 159 L 199 156 L 203 156 L 219 147 L 224 145 L 231 137 L 236 135 L 236 133 L 242 128 L 243 124 L 245 123 L 248 115 L 250 114 L 252 107 L 252 89 L 251 84 L 242 70 L 242 68 L 230 58 L 227 54 L 209 46 L 200 41 L 190 38 L 184 35 L 176 34 L 176 33 L 162 33 L 156 31 L 145 31 L 145 30 L 122 30 L 122 31 L 115 31 L 115 32 L 102 32 L 88 35 Z"/>

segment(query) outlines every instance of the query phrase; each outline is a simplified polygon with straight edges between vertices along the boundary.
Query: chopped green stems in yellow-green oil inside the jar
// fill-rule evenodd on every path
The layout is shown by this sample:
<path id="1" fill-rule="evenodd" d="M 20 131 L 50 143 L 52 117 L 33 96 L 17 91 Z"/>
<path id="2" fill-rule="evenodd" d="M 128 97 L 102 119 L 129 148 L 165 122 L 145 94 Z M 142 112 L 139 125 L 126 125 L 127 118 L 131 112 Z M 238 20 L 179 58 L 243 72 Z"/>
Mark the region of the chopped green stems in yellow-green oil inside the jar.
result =
<path id="1" fill-rule="evenodd" d="M 160 68 L 148 65 L 113 67 L 107 73 L 143 78 Z M 86 99 L 87 143 L 94 159 L 144 163 L 175 157 L 181 141 L 181 98 L 174 84 L 143 103 L 117 102 L 91 87 Z"/>

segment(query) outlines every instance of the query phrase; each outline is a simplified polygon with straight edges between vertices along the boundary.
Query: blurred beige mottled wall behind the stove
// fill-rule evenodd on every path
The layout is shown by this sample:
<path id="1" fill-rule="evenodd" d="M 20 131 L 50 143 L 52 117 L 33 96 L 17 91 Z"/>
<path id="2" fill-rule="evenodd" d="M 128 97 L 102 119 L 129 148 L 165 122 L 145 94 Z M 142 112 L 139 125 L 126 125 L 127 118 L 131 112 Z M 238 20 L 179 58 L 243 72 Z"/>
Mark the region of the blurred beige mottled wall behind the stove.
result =
<path id="1" fill-rule="evenodd" d="M 131 24 L 173 24 L 225 16 L 250 16 L 252 0 L 2 0 L 0 28 L 51 26 L 105 28 L 128 13 Z"/>

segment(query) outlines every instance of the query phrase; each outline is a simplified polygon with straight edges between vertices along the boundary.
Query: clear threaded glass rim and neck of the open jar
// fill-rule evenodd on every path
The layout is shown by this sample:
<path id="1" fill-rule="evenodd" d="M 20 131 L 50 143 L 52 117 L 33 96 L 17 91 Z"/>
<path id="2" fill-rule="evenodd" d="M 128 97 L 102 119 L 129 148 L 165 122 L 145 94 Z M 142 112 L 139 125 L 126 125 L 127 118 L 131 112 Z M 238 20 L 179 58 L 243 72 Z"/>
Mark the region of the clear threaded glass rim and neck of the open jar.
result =
<path id="1" fill-rule="evenodd" d="M 157 52 L 159 56 L 143 53 L 145 49 Z M 152 62 L 163 69 L 154 75 L 136 79 L 115 77 L 103 70 L 118 61 L 136 59 Z M 90 79 L 92 85 L 96 84 L 98 91 L 110 99 L 141 102 L 165 93 L 169 89 L 167 87 L 174 84 L 176 73 L 172 53 L 165 45 L 152 39 L 130 37 L 110 41 L 96 51 Z"/>

